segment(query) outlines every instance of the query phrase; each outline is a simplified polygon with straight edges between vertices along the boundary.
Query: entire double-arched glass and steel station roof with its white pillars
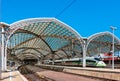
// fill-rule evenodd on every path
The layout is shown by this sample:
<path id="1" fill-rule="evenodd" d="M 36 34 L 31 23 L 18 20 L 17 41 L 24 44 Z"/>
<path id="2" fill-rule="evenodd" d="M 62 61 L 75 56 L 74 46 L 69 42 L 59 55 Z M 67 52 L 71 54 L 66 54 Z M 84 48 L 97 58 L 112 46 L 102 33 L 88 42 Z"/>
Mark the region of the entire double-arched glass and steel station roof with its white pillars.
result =
<path id="1" fill-rule="evenodd" d="M 89 37 L 82 37 L 72 27 L 55 18 L 31 18 L 12 24 L 1 22 L 0 26 L 0 65 L 3 70 L 6 69 L 7 59 L 16 61 L 37 59 L 42 62 L 84 58 L 83 66 L 85 66 L 86 56 L 99 55 L 112 50 L 111 32 L 99 32 Z M 114 39 L 115 52 L 119 52 L 120 39 L 116 36 Z"/>

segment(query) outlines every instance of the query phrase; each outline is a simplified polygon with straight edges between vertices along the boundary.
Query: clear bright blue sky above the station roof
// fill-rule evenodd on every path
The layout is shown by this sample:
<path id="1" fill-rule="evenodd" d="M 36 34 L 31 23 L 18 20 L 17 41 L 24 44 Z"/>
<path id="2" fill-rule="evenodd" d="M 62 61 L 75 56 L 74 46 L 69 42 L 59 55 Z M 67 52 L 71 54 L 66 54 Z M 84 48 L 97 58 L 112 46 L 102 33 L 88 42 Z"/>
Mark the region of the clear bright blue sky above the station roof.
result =
<path id="1" fill-rule="evenodd" d="M 73 0 L 1 0 L 0 21 L 13 22 L 37 17 L 56 17 Z M 120 0 L 75 0 L 56 17 L 83 37 L 111 31 L 120 38 Z"/>

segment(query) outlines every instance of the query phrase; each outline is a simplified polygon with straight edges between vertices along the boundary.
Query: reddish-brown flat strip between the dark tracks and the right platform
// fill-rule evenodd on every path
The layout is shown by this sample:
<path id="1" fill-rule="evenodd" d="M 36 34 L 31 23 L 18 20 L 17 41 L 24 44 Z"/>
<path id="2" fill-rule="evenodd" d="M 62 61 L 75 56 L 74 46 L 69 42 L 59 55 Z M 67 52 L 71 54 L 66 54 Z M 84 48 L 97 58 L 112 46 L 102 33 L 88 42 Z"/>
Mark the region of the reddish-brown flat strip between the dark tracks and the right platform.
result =
<path id="1" fill-rule="evenodd" d="M 35 76 L 44 79 L 40 81 L 103 81 L 102 79 L 79 76 L 79 75 L 74 75 L 71 73 L 65 73 L 60 71 L 42 69 L 36 66 L 27 65 L 26 68 L 27 70 L 32 71 L 32 73 Z M 36 81 L 38 80 L 36 79 Z"/>

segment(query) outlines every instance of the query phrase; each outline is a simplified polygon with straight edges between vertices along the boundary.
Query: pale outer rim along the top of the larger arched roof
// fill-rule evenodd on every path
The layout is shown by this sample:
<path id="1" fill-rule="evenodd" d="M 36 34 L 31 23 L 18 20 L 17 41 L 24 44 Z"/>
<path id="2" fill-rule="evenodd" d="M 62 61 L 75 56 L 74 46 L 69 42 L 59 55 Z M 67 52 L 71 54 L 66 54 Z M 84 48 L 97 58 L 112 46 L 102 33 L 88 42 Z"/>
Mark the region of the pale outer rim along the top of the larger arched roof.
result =
<path id="1" fill-rule="evenodd" d="M 10 28 L 13 29 L 13 31 L 12 31 L 12 34 L 13 34 L 16 30 L 18 30 L 22 26 L 27 26 L 29 24 L 33 24 L 34 22 L 51 22 L 51 21 L 54 21 L 54 22 L 59 23 L 60 25 L 63 25 L 66 29 L 72 31 L 75 35 L 77 35 L 78 38 L 82 38 L 82 36 L 77 31 L 75 31 L 71 26 L 63 23 L 62 21 L 59 21 L 56 18 L 29 18 L 29 19 L 24 19 L 24 20 L 14 22 L 13 24 L 10 24 Z M 14 28 L 14 26 L 16 28 Z"/>

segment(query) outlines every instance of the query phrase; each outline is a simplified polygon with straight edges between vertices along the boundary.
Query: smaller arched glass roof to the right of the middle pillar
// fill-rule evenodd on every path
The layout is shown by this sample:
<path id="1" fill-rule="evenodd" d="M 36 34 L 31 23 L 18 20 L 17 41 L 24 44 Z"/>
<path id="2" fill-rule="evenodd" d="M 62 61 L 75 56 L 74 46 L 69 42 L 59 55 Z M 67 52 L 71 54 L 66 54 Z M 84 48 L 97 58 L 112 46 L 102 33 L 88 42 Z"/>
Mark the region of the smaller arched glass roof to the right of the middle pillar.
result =
<path id="1" fill-rule="evenodd" d="M 101 32 L 90 36 L 87 40 L 87 55 L 94 56 L 112 51 L 113 34 Z M 115 52 L 120 50 L 120 40 L 114 35 Z"/>

